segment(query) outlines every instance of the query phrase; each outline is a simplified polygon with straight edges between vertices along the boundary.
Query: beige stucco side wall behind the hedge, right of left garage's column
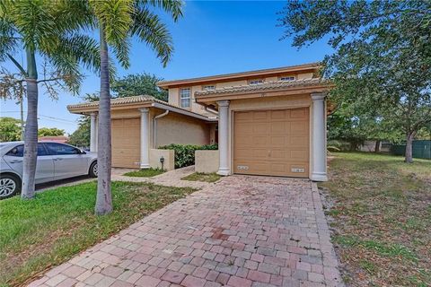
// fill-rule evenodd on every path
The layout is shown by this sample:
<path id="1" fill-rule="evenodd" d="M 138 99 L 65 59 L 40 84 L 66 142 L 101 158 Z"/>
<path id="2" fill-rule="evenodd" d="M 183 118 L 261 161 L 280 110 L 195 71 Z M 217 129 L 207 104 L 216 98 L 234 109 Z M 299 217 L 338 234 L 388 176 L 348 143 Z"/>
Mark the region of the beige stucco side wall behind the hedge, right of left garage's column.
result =
<path id="1" fill-rule="evenodd" d="M 157 119 L 157 143 L 154 147 L 170 144 L 207 144 L 210 125 L 200 119 L 170 112 Z"/>

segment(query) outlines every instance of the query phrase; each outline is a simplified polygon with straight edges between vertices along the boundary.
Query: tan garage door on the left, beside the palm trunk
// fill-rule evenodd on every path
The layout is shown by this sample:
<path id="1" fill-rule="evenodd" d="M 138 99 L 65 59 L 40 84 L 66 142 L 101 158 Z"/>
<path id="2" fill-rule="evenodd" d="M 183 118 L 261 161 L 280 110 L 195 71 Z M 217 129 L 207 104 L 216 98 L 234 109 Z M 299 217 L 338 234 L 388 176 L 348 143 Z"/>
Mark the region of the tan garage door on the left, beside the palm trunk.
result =
<path id="1" fill-rule="evenodd" d="M 112 119 L 112 166 L 138 168 L 140 161 L 139 118 Z"/>

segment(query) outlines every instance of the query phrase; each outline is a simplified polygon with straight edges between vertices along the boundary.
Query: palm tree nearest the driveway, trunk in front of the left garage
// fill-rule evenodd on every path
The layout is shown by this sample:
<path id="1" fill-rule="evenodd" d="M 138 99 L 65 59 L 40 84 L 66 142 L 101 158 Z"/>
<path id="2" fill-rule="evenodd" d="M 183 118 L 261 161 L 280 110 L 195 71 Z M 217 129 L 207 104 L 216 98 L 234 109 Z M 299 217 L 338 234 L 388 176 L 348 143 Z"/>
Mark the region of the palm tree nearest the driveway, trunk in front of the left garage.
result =
<path id="1" fill-rule="evenodd" d="M 98 23 L 101 55 L 101 91 L 98 130 L 98 185 L 96 214 L 112 211 L 110 191 L 110 63 L 109 48 L 125 68 L 129 66 L 128 51 L 131 39 L 136 38 L 153 48 L 165 66 L 172 57 L 172 37 L 152 8 L 170 13 L 176 22 L 182 16 L 182 2 L 138 0 L 90 0 L 89 8 Z M 154 9 L 153 9 L 154 10 Z"/>

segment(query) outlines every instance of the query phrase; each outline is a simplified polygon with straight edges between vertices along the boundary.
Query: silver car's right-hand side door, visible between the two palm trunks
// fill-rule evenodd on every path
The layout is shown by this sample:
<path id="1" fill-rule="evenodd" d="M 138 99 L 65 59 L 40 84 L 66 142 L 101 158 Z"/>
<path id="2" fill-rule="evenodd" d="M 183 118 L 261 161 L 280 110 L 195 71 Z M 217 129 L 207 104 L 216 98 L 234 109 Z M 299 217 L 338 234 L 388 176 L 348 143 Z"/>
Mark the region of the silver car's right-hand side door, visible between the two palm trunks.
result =
<path id="1" fill-rule="evenodd" d="M 73 178 L 88 173 L 88 159 L 81 150 L 63 143 L 44 143 L 54 158 L 54 178 Z"/>

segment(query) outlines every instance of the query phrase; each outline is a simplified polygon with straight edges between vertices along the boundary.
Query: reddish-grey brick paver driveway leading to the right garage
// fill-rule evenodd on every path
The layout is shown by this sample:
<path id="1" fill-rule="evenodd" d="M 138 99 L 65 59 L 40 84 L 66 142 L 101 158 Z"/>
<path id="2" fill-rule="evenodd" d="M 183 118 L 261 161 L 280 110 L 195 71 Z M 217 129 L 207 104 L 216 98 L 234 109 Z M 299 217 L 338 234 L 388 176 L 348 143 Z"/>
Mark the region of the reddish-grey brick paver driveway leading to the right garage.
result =
<path id="1" fill-rule="evenodd" d="M 170 204 L 32 286 L 340 286 L 308 180 L 232 176 Z"/>

